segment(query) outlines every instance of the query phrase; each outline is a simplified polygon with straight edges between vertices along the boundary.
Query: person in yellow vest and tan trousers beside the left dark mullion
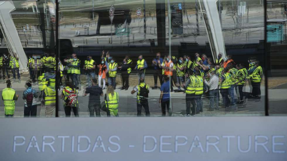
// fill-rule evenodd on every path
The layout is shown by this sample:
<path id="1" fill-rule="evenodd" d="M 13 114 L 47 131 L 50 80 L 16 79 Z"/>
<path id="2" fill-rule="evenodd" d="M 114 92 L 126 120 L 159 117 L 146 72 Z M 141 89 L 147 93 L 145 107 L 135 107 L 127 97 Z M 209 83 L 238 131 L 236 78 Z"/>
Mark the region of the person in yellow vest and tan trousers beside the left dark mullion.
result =
<path id="1" fill-rule="evenodd" d="M 56 108 L 56 79 L 49 78 L 49 83 L 44 89 L 45 116 L 51 117 Z"/>

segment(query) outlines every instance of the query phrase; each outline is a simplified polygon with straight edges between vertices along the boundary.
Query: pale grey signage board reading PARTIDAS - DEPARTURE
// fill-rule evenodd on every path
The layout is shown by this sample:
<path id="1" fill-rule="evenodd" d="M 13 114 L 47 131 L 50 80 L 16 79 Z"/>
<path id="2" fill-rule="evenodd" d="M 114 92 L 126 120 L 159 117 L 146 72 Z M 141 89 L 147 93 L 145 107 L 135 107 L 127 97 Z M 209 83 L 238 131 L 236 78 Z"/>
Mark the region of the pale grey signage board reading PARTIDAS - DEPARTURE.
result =
<path id="1" fill-rule="evenodd" d="M 5 161 L 285 161 L 286 122 L 287 117 L 270 116 L 1 118 L 0 156 Z"/>

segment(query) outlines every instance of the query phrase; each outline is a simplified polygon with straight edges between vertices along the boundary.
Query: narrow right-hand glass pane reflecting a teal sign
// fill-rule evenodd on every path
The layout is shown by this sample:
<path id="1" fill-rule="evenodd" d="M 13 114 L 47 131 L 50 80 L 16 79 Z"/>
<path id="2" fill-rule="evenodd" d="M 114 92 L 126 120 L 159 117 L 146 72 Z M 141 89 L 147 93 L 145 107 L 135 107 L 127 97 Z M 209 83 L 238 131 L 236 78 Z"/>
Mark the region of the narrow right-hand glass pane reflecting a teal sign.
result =
<path id="1" fill-rule="evenodd" d="M 286 4 L 267 3 L 268 99 L 270 115 L 286 115 Z"/>

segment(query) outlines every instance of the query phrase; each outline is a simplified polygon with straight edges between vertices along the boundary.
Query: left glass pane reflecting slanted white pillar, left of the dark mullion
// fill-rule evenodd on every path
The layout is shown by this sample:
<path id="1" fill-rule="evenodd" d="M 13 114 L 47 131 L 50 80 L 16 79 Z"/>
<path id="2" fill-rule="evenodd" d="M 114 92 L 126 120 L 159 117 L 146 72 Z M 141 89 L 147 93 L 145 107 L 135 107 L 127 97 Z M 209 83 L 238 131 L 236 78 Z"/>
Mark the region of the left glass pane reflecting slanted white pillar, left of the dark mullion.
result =
<path id="1" fill-rule="evenodd" d="M 39 76 L 48 71 L 44 68 L 47 64 L 41 61 L 44 51 L 54 53 L 55 36 L 51 36 L 55 30 L 54 4 L 52 1 L 0 2 L 0 86 L 4 99 L 0 101 L 0 117 L 45 116 Z M 51 74 L 54 73 L 47 73 Z M 55 110 L 50 113 L 55 116 Z"/>

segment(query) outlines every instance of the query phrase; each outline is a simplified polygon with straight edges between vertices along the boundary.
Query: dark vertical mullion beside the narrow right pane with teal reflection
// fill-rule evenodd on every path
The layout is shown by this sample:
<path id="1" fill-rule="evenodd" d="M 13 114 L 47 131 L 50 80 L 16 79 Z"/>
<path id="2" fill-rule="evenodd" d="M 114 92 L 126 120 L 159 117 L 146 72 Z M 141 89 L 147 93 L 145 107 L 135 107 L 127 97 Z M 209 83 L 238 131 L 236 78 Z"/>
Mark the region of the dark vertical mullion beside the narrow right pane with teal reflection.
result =
<path id="1" fill-rule="evenodd" d="M 264 0 L 264 78 L 265 78 L 265 116 L 269 116 L 269 100 L 268 100 L 268 73 L 269 73 L 269 63 L 268 59 L 268 49 L 267 49 L 267 0 Z M 268 62 L 268 63 L 267 63 Z M 271 68 L 270 68 L 271 70 Z"/>

